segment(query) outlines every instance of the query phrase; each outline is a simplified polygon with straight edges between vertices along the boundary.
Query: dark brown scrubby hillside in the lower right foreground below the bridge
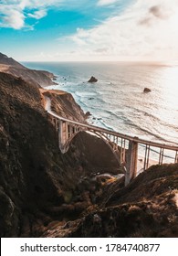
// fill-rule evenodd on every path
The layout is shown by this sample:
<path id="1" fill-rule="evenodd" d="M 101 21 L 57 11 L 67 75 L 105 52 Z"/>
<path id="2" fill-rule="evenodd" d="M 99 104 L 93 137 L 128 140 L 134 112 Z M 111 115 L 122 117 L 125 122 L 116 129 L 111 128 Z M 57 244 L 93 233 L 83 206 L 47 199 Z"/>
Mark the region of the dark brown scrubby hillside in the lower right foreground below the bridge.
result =
<path id="1" fill-rule="evenodd" d="M 177 238 L 178 164 L 153 165 L 128 187 L 105 186 L 82 219 L 54 226 L 43 237 Z"/>

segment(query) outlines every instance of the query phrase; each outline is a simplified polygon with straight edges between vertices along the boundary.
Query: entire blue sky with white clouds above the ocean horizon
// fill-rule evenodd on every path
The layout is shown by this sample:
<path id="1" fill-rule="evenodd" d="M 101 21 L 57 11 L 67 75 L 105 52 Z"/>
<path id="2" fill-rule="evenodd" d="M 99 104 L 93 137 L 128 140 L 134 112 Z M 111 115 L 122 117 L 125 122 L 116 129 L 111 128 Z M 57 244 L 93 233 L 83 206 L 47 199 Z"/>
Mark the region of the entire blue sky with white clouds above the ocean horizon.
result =
<path id="1" fill-rule="evenodd" d="M 18 61 L 178 61 L 178 0 L 0 0 Z"/>

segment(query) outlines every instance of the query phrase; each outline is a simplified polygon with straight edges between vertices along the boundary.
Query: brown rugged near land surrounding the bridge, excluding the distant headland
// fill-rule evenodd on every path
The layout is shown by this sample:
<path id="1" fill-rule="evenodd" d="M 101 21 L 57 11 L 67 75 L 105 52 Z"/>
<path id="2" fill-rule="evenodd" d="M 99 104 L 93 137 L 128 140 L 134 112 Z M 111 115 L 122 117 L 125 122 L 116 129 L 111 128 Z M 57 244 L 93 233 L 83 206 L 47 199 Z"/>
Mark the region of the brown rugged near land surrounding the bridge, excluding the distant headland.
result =
<path id="1" fill-rule="evenodd" d="M 61 154 L 45 96 L 87 122 L 71 94 L 0 71 L 0 95 L 1 237 L 178 236 L 178 164 L 152 165 L 124 187 L 99 137 L 81 132 Z"/>

